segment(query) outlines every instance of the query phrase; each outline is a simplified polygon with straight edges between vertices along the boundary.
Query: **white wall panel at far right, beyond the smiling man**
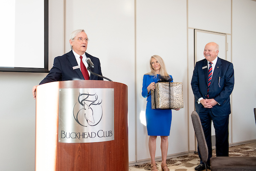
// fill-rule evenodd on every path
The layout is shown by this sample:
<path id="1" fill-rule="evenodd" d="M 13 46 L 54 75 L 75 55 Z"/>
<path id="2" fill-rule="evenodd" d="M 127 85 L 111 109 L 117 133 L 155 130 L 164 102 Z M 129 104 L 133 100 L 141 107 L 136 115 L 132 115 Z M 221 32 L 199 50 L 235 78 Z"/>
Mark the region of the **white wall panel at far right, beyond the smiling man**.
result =
<path id="1" fill-rule="evenodd" d="M 256 108 L 256 1 L 233 0 L 232 61 L 235 70 L 233 90 L 233 142 L 256 138 L 253 108 Z"/>

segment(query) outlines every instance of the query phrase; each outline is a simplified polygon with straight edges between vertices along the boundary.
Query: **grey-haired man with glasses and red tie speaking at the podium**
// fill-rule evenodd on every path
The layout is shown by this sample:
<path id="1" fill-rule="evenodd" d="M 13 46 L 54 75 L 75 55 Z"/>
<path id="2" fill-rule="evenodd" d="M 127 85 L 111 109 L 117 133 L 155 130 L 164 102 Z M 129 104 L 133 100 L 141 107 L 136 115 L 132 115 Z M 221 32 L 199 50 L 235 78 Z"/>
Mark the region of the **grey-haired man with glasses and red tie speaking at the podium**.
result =
<path id="1" fill-rule="evenodd" d="M 90 68 L 90 70 L 96 74 L 102 75 L 99 58 L 93 57 L 92 55 L 89 55 L 85 52 L 87 49 L 88 41 L 89 39 L 84 30 L 80 29 L 72 32 L 70 35 L 70 46 L 72 50 L 54 59 L 52 69 L 39 85 L 52 81 L 84 80 L 86 77 L 84 78 L 81 72 L 80 62 L 82 60 L 86 67 L 86 58 L 90 58 L 95 66 L 94 68 Z M 82 59 L 80 56 L 82 56 Z M 88 74 L 88 78 L 90 80 L 103 80 L 103 78 L 100 78 L 96 75 L 90 75 L 90 73 Z M 37 86 L 38 85 L 32 88 L 34 99 Z"/>

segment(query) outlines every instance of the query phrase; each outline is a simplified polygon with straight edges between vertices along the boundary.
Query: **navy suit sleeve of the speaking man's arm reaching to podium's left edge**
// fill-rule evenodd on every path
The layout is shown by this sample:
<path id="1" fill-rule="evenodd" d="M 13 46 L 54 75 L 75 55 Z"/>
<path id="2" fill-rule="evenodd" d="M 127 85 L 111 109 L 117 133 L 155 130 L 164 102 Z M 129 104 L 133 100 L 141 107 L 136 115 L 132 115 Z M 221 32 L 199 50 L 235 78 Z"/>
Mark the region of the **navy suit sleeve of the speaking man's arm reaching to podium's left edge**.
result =
<path id="1" fill-rule="evenodd" d="M 49 74 L 40 82 L 39 85 L 53 81 L 61 81 L 61 73 L 61 63 L 59 61 L 59 58 L 56 57 L 54 59 L 53 67 L 50 70 Z"/>

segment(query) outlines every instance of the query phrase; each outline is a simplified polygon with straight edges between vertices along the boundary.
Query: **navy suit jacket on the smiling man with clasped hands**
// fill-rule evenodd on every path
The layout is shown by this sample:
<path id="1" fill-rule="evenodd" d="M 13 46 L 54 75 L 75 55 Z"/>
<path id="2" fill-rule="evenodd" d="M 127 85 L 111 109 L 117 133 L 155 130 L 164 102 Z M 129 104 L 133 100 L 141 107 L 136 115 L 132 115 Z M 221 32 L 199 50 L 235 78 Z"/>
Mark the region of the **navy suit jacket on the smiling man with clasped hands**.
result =
<path id="1" fill-rule="evenodd" d="M 198 99 L 207 99 L 208 68 L 207 60 L 203 59 L 195 64 L 195 70 L 191 81 L 193 93 L 195 95 L 195 108 L 198 114 L 208 110 L 202 104 L 198 104 Z M 230 94 L 234 88 L 233 64 L 218 58 L 212 74 L 212 81 L 209 87 L 209 99 L 218 102 L 211 108 L 214 116 L 227 116 L 230 110 Z"/>

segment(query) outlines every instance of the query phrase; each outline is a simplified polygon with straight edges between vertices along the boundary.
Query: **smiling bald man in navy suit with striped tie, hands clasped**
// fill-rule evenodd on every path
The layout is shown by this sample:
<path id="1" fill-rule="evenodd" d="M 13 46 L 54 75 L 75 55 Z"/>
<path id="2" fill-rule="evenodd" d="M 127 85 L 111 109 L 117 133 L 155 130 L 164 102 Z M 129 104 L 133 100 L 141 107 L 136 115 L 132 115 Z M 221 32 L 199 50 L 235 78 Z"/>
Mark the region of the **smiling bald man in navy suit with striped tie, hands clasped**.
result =
<path id="1" fill-rule="evenodd" d="M 209 151 L 207 168 L 210 168 L 209 159 L 212 157 L 211 122 L 215 128 L 216 156 L 228 156 L 228 121 L 231 113 L 230 94 L 234 87 L 234 70 L 232 63 L 218 58 L 218 51 L 217 43 L 211 42 L 205 46 L 205 59 L 195 64 L 191 81 L 195 109 L 201 119 Z M 208 73 L 209 69 L 211 73 Z M 199 149 L 198 154 L 201 159 Z M 204 169 L 201 159 L 195 170 Z"/>

